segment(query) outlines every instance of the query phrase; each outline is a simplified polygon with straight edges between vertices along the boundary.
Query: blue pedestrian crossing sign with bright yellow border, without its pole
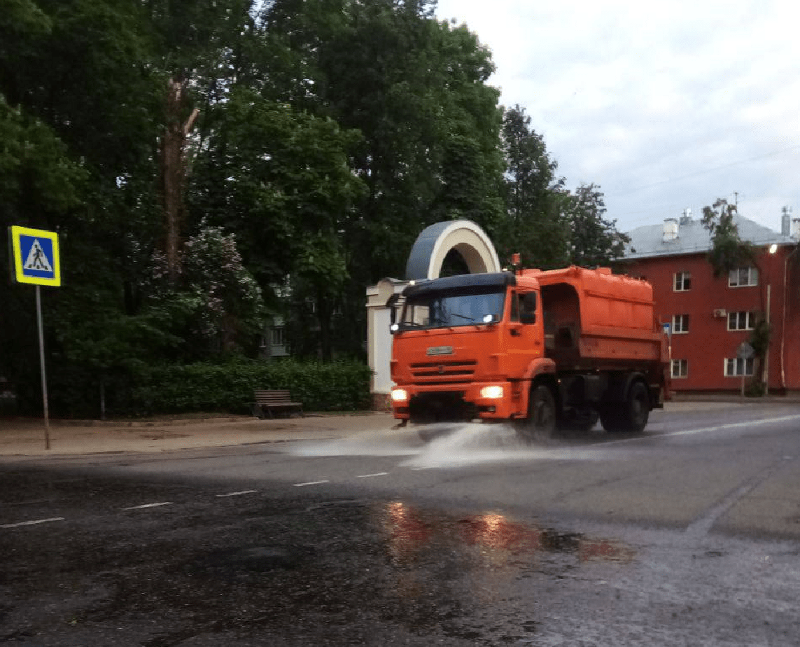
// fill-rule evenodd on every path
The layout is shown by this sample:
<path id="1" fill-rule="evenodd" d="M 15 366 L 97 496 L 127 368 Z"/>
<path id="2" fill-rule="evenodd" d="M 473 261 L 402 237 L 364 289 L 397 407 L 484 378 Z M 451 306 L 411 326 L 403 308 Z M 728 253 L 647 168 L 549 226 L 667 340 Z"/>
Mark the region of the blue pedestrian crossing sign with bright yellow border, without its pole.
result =
<path id="1" fill-rule="evenodd" d="M 61 285 L 58 234 L 55 231 L 10 227 L 11 276 L 18 283 Z"/>

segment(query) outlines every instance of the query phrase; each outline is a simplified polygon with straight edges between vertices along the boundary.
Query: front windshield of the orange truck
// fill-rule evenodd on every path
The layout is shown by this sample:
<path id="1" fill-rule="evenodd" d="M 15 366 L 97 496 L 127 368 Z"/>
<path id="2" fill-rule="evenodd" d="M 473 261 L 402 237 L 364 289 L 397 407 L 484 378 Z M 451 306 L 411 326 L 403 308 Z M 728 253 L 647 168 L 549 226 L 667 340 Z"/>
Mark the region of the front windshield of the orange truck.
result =
<path id="1" fill-rule="evenodd" d="M 400 328 L 474 326 L 486 324 L 487 315 L 498 321 L 502 316 L 504 297 L 505 291 L 498 286 L 462 287 L 411 295 L 403 307 Z"/>

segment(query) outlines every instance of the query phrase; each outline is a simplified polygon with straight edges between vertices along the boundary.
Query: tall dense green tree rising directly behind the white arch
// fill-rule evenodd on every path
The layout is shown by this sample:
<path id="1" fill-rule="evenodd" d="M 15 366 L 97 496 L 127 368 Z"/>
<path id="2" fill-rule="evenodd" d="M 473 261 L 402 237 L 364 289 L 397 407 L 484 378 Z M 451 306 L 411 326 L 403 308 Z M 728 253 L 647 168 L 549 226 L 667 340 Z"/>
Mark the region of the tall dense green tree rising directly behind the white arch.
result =
<path id="1" fill-rule="evenodd" d="M 400 275 L 428 224 L 465 217 L 491 230 L 501 211 L 491 55 L 433 7 L 347 2 L 346 22 L 318 47 L 320 102 L 363 135 L 353 166 L 368 191 L 346 226 L 361 285 Z"/>

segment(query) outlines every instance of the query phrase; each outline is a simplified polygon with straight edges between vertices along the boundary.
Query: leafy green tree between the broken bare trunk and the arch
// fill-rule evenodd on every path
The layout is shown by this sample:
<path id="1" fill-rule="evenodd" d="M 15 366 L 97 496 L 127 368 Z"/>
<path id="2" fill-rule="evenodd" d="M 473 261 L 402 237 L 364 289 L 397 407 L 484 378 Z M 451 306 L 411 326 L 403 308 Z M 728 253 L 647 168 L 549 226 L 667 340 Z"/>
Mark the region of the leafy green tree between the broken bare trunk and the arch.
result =
<path id="1" fill-rule="evenodd" d="M 286 275 L 304 281 L 317 301 L 328 358 L 330 312 L 349 279 L 345 222 L 364 191 L 349 164 L 360 135 L 246 89 L 234 90 L 218 112 L 209 150 L 198 159 L 196 208 L 237 231 L 260 283 Z"/>

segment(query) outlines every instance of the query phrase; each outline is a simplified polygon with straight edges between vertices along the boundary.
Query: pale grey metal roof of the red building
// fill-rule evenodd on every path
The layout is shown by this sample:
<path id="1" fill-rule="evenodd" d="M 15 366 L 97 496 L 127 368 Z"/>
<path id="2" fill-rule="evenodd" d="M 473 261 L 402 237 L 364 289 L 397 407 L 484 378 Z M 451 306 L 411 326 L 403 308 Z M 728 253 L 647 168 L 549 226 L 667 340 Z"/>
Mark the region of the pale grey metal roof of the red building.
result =
<path id="1" fill-rule="evenodd" d="M 678 237 L 664 240 L 664 224 L 637 227 L 627 234 L 630 243 L 625 247 L 625 259 L 643 259 L 650 256 L 670 256 L 678 254 L 698 254 L 709 251 L 711 236 L 700 220 L 678 218 Z M 739 237 L 756 246 L 796 245 L 798 241 L 778 234 L 769 227 L 764 227 L 743 215 L 734 215 L 734 223 L 738 227 Z"/>

